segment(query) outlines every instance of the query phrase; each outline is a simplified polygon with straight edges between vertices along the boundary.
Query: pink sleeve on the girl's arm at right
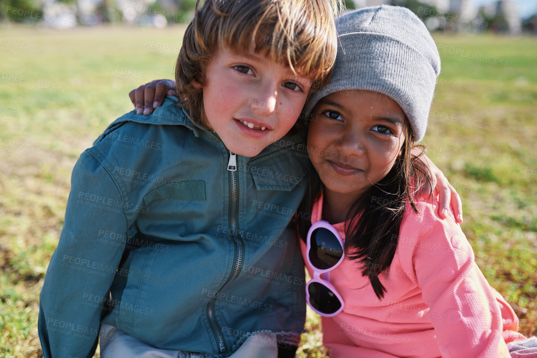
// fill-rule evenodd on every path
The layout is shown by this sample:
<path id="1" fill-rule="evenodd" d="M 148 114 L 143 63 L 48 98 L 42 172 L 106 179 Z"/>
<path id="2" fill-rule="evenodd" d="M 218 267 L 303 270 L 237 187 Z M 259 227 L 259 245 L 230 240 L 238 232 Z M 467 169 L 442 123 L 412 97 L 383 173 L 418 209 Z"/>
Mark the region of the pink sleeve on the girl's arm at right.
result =
<path id="1" fill-rule="evenodd" d="M 474 252 L 453 214 L 437 216 L 437 202 L 418 203 L 403 221 L 400 239 L 413 243 L 404 269 L 422 289 L 443 357 L 506 357 L 502 315 Z"/>

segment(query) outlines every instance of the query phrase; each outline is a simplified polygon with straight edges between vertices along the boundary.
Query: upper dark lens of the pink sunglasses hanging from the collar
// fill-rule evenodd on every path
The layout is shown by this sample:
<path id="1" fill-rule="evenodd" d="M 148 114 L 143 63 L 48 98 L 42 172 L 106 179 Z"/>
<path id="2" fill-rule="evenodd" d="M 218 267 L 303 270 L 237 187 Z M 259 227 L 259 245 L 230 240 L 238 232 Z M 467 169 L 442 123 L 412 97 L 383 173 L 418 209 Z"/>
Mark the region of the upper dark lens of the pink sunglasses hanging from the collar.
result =
<path id="1" fill-rule="evenodd" d="M 343 247 L 336 235 L 328 229 L 318 228 L 311 232 L 309 260 L 318 269 L 335 266 L 343 256 Z"/>

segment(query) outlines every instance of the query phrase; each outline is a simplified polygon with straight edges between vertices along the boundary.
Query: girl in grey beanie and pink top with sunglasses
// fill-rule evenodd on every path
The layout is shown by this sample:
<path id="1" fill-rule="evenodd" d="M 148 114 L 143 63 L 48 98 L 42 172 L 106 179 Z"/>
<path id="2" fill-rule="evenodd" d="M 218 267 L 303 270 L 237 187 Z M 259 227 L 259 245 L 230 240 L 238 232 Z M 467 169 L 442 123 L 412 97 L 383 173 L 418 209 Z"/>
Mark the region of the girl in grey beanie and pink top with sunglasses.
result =
<path id="1" fill-rule="evenodd" d="M 324 316 L 330 357 L 510 357 L 506 342 L 525 339 L 518 318 L 453 213 L 439 217 L 431 174 L 411 152 L 440 73 L 434 40 L 397 6 L 337 26 L 332 78 L 306 107 L 315 150 L 298 211 L 307 301 Z"/>

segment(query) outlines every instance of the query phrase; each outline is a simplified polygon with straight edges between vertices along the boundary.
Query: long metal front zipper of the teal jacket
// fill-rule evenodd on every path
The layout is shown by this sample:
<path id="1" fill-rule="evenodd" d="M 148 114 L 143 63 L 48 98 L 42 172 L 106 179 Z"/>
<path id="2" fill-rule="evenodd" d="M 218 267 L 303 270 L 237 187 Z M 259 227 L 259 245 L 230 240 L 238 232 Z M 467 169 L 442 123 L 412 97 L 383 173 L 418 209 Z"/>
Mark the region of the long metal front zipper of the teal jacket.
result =
<path id="1" fill-rule="evenodd" d="M 216 298 L 220 296 L 220 293 L 231 283 L 231 281 L 235 280 L 238 276 L 238 274 L 241 272 L 242 264 L 244 261 L 244 243 L 242 240 L 237 237 L 237 198 L 238 198 L 238 190 L 237 190 L 237 155 L 235 153 L 229 152 L 229 162 L 228 162 L 228 174 L 229 174 L 229 182 L 230 182 L 230 201 L 229 201 L 229 224 L 230 224 L 230 234 L 231 238 L 233 239 L 233 243 L 235 246 L 235 257 L 233 259 L 233 268 L 231 268 L 231 273 L 228 277 L 228 280 L 224 285 L 220 288 L 220 290 L 217 291 L 217 293 L 211 298 L 209 303 L 207 304 L 207 320 L 209 321 L 209 325 L 211 325 L 211 330 L 213 331 L 213 334 L 216 338 L 216 345 L 218 346 L 219 352 L 225 352 L 227 350 L 226 340 L 224 339 L 224 334 L 222 333 L 222 330 L 220 328 L 220 325 L 216 321 L 216 317 L 214 315 L 214 305 Z"/>

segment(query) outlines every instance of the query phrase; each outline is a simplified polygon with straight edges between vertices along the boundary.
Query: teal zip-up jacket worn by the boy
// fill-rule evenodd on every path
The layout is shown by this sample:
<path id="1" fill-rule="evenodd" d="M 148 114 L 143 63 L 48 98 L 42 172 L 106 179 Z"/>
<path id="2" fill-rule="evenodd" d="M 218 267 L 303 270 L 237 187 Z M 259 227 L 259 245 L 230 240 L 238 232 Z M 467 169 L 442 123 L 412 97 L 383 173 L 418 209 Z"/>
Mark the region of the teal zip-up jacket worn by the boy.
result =
<path id="1" fill-rule="evenodd" d="M 207 357 L 255 332 L 302 332 L 304 264 L 288 224 L 307 185 L 303 133 L 230 154 L 168 96 L 93 144 L 40 294 L 45 358 L 91 357 L 101 322 Z"/>

